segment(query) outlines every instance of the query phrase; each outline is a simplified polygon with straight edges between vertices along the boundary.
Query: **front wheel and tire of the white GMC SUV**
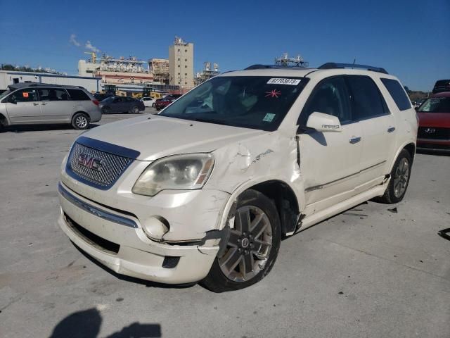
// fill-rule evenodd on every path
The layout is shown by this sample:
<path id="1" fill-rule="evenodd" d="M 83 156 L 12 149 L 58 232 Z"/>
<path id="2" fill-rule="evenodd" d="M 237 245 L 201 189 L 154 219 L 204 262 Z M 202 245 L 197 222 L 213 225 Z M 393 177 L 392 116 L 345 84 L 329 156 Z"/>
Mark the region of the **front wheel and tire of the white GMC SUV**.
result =
<path id="1" fill-rule="evenodd" d="M 226 249 L 201 282 L 212 292 L 250 287 L 274 266 L 281 243 L 278 211 L 264 194 L 249 189 L 239 196 Z"/>

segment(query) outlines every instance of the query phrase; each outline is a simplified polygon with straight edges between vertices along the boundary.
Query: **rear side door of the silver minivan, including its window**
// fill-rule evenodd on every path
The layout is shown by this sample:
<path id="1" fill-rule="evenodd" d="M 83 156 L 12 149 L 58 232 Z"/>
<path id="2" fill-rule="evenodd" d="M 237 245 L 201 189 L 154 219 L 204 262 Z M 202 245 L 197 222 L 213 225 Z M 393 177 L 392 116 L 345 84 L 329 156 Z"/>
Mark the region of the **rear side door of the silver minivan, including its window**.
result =
<path id="1" fill-rule="evenodd" d="M 70 120 L 73 113 L 73 101 L 63 88 L 39 88 L 42 119 L 47 123 L 62 123 Z"/>

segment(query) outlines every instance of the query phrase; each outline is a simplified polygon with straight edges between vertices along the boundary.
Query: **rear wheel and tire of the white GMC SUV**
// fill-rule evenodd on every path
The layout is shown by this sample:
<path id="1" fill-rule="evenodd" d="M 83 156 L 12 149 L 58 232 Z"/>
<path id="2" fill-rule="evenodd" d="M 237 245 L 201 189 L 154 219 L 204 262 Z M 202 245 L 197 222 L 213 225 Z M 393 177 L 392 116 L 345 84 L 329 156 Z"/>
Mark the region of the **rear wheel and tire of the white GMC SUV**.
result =
<path id="1" fill-rule="evenodd" d="M 394 167 L 392 167 L 389 185 L 385 194 L 378 198 L 378 201 L 385 204 L 394 204 L 399 203 L 404 198 L 411 177 L 411 164 L 409 151 L 406 149 L 400 151 Z"/>

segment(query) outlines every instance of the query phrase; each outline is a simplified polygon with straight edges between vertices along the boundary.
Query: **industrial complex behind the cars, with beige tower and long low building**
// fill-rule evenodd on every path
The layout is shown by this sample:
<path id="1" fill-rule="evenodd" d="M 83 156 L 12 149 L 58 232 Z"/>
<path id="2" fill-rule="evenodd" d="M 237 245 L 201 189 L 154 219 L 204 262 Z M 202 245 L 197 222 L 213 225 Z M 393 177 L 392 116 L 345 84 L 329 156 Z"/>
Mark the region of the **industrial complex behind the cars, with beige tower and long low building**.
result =
<path id="1" fill-rule="evenodd" d="M 59 75 L 52 73 L 29 73 L 17 70 L 0 70 L 0 91 L 8 84 L 18 82 L 40 82 L 81 86 L 89 92 L 120 92 L 122 95 L 148 95 L 149 92 L 185 93 L 195 86 L 193 72 L 192 43 L 175 37 L 169 46 L 169 59 L 150 58 L 141 61 L 134 56 L 114 58 L 103 54 L 98 57 L 95 52 L 86 52 L 90 57 L 78 61 L 78 75 Z M 207 65 L 207 67 L 206 67 Z M 198 74 L 198 83 L 217 75 L 218 65 L 214 70 L 210 63 L 205 63 L 205 70 Z"/>

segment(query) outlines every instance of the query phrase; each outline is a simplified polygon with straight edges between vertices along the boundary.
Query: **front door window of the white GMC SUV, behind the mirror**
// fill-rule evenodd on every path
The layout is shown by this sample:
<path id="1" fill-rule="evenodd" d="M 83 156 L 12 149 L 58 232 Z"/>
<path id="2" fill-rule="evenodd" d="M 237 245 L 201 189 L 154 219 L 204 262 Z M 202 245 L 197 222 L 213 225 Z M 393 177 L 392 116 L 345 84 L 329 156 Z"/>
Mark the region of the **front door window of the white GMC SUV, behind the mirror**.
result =
<path id="1" fill-rule="evenodd" d="M 315 111 L 336 116 L 340 123 L 352 120 L 344 77 L 332 77 L 317 84 L 300 113 L 299 125 L 306 125 L 309 115 Z"/>

